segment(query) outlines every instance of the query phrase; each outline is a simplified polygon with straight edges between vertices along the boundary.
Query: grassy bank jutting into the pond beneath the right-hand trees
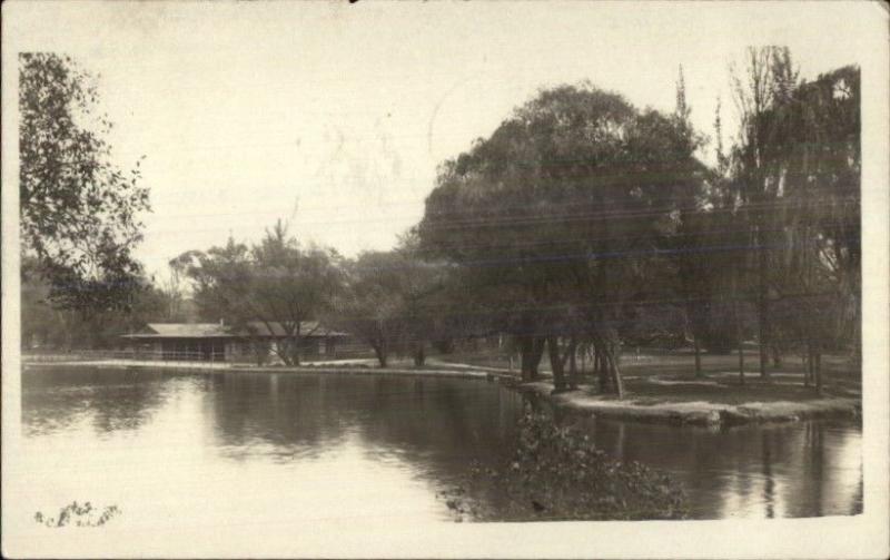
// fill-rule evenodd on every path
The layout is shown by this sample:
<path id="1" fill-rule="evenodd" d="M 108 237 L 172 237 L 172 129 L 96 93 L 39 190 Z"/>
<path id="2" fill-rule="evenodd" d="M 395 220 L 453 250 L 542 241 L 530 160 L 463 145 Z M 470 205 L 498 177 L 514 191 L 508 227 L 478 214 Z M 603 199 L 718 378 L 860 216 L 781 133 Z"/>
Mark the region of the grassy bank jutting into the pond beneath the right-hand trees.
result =
<path id="1" fill-rule="evenodd" d="M 822 394 L 804 386 L 804 366 L 787 358 L 770 364 L 769 379 L 760 376 L 755 352 L 745 354 L 745 382 L 741 384 L 738 356 L 702 356 L 702 375 L 694 374 L 694 357 L 686 352 L 624 354 L 621 370 L 624 399 L 601 393 L 593 375 L 583 375 L 577 391 L 553 395 L 560 406 L 595 415 L 640 422 L 720 425 L 780 422 L 819 416 L 858 416 L 861 375 L 844 356 L 823 356 Z M 552 377 L 525 384 L 550 395 Z"/>

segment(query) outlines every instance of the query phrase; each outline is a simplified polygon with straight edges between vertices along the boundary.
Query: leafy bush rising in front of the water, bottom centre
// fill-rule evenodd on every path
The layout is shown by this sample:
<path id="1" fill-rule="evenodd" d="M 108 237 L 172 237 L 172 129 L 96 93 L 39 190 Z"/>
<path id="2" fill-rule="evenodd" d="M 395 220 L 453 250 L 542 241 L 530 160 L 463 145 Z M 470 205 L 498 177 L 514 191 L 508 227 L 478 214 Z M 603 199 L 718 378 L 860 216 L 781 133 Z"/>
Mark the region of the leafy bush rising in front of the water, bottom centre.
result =
<path id="1" fill-rule="evenodd" d="M 477 520 L 682 519 L 683 494 L 666 477 L 637 462 L 621 463 L 594 448 L 580 429 L 557 426 L 540 413 L 520 420 L 516 452 L 502 469 L 472 469 L 473 488 L 485 481 L 503 497 L 496 505 L 473 500 L 473 490 L 445 498 L 449 509 Z M 493 488 L 492 488 L 493 487 Z M 469 494 L 471 498 L 464 498 Z"/>

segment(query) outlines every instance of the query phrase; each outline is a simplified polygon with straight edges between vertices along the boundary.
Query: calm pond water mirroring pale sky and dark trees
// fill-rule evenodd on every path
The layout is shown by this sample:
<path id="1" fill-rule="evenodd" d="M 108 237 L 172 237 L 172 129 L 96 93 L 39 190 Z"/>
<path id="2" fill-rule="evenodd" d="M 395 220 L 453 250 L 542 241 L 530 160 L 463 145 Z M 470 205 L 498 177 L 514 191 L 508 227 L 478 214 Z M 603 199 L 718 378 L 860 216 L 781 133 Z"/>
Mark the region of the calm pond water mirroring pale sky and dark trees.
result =
<path id="1" fill-rule="evenodd" d="M 503 464 L 523 405 L 475 380 L 28 371 L 17 503 L 31 523 L 72 500 L 116 504 L 113 523 L 147 531 L 449 521 L 437 492 L 471 461 Z M 615 458 L 672 474 L 695 518 L 861 512 L 853 423 L 581 423 Z"/>

